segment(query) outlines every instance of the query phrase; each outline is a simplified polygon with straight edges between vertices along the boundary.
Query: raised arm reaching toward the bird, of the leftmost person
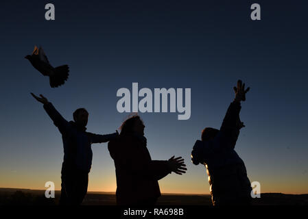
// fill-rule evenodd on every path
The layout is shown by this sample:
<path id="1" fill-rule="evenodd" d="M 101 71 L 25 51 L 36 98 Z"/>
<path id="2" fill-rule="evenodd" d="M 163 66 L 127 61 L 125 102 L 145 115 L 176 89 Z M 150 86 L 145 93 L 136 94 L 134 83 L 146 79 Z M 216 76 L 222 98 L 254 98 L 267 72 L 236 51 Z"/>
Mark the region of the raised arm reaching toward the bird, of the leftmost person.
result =
<path id="1" fill-rule="evenodd" d="M 41 97 L 38 97 L 34 94 L 32 94 L 32 96 L 38 102 L 43 103 L 43 107 L 44 107 L 45 111 L 47 112 L 47 114 L 51 118 L 51 120 L 54 121 L 54 125 L 56 125 L 56 127 L 58 127 L 58 129 L 59 129 L 60 133 L 62 133 L 62 135 L 71 135 L 72 134 L 71 125 L 69 125 L 69 122 L 67 122 L 67 120 L 65 120 L 61 116 L 61 114 L 56 110 L 54 105 L 52 105 L 52 103 L 50 103 L 47 100 L 47 98 L 45 98 L 45 96 L 43 96 L 42 94 L 40 94 Z"/>

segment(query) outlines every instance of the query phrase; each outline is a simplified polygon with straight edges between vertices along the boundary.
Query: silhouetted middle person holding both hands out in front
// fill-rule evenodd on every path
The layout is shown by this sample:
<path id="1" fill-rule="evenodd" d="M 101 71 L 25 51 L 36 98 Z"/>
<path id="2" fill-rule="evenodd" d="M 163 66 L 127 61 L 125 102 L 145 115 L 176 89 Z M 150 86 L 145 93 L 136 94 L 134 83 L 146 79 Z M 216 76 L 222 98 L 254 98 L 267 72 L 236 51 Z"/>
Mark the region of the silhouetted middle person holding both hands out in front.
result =
<path id="1" fill-rule="evenodd" d="M 182 175 L 187 170 L 182 157 L 152 160 L 144 128 L 141 118 L 132 116 L 121 125 L 119 138 L 108 143 L 115 162 L 117 205 L 155 205 L 161 196 L 158 180 L 171 172 Z"/>

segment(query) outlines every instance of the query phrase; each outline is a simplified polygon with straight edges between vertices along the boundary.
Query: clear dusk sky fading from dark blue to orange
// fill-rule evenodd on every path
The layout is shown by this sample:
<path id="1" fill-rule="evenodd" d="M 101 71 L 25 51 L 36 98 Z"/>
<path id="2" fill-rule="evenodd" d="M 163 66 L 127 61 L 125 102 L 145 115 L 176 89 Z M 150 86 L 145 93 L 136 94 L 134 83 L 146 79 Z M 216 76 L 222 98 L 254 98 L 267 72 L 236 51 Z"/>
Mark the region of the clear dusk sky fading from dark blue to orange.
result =
<path id="1" fill-rule="evenodd" d="M 54 3 L 56 20 L 45 21 Z M 250 5 L 261 5 L 261 21 Z M 90 112 L 88 131 L 112 133 L 119 88 L 191 88 L 191 118 L 141 114 L 152 159 L 182 156 L 185 175 L 159 181 L 162 192 L 209 193 L 204 166 L 190 153 L 204 127 L 219 128 L 233 86 L 251 90 L 242 104 L 235 147 L 261 192 L 308 193 L 307 1 L 1 1 L 0 187 L 60 190 L 62 139 L 43 106 L 44 94 L 72 120 Z M 70 76 L 50 88 L 23 57 L 42 45 Z M 115 191 L 107 144 L 93 144 L 89 191 Z"/>

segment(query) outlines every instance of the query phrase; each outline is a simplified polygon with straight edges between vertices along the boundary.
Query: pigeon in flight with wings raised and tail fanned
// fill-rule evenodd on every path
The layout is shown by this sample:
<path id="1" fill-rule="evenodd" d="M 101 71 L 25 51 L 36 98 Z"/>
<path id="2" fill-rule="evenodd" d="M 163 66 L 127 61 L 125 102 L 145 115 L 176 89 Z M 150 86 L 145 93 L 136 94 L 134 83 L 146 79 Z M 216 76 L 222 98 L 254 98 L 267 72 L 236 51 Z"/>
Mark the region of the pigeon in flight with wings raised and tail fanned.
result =
<path id="1" fill-rule="evenodd" d="M 25 59 L 29 60 L 32 66 L 44 76 L 49 76 L 51 88 L 61 86 L 69 77 L 69 66 L 67 64 L 56 68 L 51 66 L 42 47 L 38 49 L 38 47 L 35 46 L 32 55 L 26 55 Z"/>

